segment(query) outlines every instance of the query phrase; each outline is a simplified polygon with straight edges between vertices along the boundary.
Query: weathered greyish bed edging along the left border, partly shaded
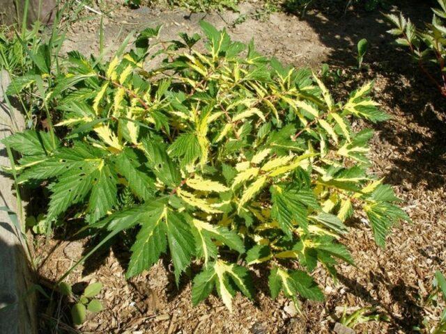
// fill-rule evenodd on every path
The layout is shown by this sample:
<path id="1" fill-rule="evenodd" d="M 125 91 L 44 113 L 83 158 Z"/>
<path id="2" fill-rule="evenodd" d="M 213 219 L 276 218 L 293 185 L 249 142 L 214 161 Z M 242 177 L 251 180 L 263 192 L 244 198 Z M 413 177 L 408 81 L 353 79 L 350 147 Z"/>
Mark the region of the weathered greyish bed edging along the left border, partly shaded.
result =
<path id="1" fill-rule="evenodd" d="M 0 72 L 0 139 L 24 128 L 24 119 L 17 109 L 10 110 L 3 93 L 10 82 L 6 71 Z M 0 166 L 10 166 L 5 145 L 0 143 Z M 0 173 L 0 207 L 20 214 L 13 180 Z M 24 221 L 23 218 L 21 221 Z M 20 219 L 19 219 L 20 224 Z M 0 210 L 0 333 L 36 333 L 35 297 L 30 288 L 29 258 L 26 256 L 20 226 L 15 225 L 4 210 Z M 1 310 L 1 308 L 6 307 Z"/>

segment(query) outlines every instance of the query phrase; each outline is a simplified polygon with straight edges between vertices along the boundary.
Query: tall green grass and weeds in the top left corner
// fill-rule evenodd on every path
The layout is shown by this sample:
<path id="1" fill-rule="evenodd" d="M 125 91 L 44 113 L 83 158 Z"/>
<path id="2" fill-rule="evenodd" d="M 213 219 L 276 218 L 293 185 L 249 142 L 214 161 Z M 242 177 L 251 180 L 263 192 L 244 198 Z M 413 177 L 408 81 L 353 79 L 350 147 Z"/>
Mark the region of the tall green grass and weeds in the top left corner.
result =
<path id="1" fill-rule="evenodd" d="M 15 26 L 5 27 L 0 30 L 0 68 L 6 70 L 11 78 L 21 77 L 20 80 L 13 80 L 13 84 L 8 87 L 8 95 L 17 95 L 20 106 L 26 116 L 26 127 L 31 129 L 40 122 L 44 122 L 52 132 L 51 118 L 48 117 L 47 108 L 39 103 L 43 103 L 41 98 L 42 89 L 33 92 L 28 89 L 33 81 L 33 77 L 45 77 L 51 80 L 50 73 L 59 73 L 59 52 L 65 40 L 66 30 L 72 22 L 78 19 L 79 12 L 84 9 L 83 3 L 70 0 L 62 4 L 57 1 L 57 8 L 54 10 L 54 20 L 51 29 L 42 26 L 40 22 L 35 22 L 31 29 L 26 27 L 26 15 L 23 17 L 22 30 L 17 31 Z M 27 5 L 26 5 L 27 6 Z M 26 75 L 25 75 L 26 74 Z M 37 86 L 43 81 L 37 80 Z M 23 92 L 28 90 L 29 100 L 24 103 Z M 40 98 L 39 98 L 40 95 Z M 10 101 L 6 97 L 6 103 L 10 108 Z"/>

